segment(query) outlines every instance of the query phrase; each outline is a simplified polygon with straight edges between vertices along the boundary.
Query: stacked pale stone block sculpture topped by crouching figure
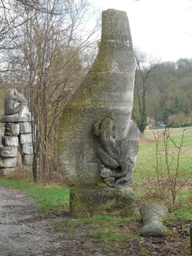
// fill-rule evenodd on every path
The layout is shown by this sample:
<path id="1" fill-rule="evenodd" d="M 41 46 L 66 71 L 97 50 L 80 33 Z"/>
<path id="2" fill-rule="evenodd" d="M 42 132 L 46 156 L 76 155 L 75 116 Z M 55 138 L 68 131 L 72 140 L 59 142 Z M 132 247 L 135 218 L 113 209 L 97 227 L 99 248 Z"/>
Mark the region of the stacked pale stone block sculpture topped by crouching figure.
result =
<path id="1" fill-rule="evenodd" d="M 23 165 L 32 165 L 31 113 L 28 110 L 28 100 L 16 89 L 8 89 L 5 115 L 0 121 L 5 124 L 0 148 L 0 168 L 4 171 L 15 168 L 19 151 Z"/>

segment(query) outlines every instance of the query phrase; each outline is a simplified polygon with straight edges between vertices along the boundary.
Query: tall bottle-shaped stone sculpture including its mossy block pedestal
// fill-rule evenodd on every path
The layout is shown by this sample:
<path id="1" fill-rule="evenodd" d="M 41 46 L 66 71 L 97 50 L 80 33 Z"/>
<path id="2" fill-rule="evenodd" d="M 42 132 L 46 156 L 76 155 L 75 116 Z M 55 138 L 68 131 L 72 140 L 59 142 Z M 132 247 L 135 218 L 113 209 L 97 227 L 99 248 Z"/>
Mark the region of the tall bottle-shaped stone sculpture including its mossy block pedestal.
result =
<path id="1" fill-rule="evenodd" d="M 131 121 L 134 51 L 126 12 L 102 12 L 98 56 L 68 101 L 58 158 L 71 186 L 71 217 L 134 211 L 132 171 L 139 132 Z"/>

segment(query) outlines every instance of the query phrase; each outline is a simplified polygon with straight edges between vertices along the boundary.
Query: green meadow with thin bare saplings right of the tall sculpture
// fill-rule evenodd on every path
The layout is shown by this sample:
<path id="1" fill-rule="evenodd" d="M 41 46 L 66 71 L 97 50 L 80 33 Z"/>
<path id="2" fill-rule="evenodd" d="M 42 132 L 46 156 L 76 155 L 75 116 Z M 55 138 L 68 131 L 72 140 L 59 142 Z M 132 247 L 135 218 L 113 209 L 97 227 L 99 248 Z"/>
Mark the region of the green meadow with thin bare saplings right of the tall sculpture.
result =
<path id="1" fill-rule="evenodd" d="M 159 201 L 170 211 L 191 205 L 192 129 L 147 131 L 134 168 L 134 192 L 139 201 Z"/>

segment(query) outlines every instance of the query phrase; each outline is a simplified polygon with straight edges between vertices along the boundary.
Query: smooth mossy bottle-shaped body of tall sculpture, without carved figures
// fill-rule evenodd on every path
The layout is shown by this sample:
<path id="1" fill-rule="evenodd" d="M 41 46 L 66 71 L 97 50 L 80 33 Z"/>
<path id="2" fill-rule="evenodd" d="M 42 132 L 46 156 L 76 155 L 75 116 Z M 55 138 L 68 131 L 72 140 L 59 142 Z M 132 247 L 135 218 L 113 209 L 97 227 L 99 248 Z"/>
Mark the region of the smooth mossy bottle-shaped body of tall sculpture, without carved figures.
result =
<path id="1" fill-rule="evenodd" d="M 66 180 L 98 182 L 100 175 L 94 123 L 113 116 L 119 137 L 127 131 L 134 89 L 134 52 L 127 14 L 103 13 L 101 45 L 91 70 L 66 105 L 58 131 L 58 157 Z M 114 32 L 115 31 L 115 35 Z M 128 95 L 128 96 L 127 96 Z M 68 176 L 68 177 L 67 177 Z M 83 179 L 87 178 L 87 180 Z"/>

